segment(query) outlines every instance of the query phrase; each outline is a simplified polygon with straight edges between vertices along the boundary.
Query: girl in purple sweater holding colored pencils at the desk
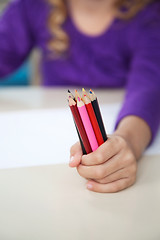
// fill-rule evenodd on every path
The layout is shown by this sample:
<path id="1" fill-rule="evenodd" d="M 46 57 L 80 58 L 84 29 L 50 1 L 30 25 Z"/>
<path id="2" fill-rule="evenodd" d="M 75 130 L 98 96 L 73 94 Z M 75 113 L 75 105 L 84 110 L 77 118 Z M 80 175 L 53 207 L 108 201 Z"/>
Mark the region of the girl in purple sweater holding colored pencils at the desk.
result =
<path id="1" fill-rule="evenodd" d="M 113 135 L 88 155 L 76 143 L 70 166 L 92 191 L 131 186 L 160 123 L 160 1 L 12 0 L 0 20 L 0 77 L 33 47 L 45 86 L 126 87 Z"/>

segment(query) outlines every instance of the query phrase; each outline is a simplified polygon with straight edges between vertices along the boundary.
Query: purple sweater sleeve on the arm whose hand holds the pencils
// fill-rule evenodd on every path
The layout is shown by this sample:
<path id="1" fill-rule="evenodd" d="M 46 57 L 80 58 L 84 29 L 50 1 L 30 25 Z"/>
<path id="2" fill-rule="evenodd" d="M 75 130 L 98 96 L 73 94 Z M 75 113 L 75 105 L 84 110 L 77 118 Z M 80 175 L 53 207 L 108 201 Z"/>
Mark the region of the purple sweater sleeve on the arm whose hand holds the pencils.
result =
<path id="1" fill-rule="evenodd" d="M 150 127 L 152 142 L 160 124 L 160 14 L 139 23 L 139 31 L 132 32 L 132 37 L 126 94 L 116 127 L 124 117 L 138 116 Z"/>

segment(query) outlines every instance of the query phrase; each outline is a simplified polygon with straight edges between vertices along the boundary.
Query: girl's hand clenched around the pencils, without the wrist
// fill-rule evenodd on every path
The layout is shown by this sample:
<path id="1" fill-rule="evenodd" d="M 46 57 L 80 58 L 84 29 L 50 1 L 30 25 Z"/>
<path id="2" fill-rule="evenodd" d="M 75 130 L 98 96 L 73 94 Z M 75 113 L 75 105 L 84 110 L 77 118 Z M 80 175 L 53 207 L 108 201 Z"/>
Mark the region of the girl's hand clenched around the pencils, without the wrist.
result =
<path id="1" fill-rule="evenodd" d="M 73 145 L 70 167 L 77 167 L 78 173 L 88 180 L 87 188 L 95 192 L 118 192 L 136 180 L 134 153 L 127 141 L 116 135 L 88 155 L 82 155 L 80 143 Z"/>

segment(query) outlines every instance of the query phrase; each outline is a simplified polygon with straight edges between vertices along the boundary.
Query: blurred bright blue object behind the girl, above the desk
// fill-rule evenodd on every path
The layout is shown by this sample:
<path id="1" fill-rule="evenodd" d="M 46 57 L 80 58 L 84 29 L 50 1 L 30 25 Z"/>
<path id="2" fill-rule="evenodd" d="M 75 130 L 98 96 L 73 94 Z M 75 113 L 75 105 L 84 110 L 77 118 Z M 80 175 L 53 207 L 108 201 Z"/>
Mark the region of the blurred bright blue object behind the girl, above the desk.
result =
<path id="1" fill-rule="evenodd" d="M 23 64 L 13 74 L 6 78 L 0 79 L 0 87 L 2 86 L 27 86 L 30 84 L 31 68 L 29 61 Z"/>

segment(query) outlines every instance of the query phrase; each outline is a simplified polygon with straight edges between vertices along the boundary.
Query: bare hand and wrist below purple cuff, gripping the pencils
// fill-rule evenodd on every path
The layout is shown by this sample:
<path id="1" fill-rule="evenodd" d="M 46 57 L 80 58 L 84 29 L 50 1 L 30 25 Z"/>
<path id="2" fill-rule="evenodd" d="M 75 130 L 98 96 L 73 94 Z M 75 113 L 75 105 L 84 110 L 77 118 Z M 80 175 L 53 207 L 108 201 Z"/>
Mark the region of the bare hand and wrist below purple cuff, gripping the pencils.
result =
<path id="1" fill-rule="evenodd" d="M 70 167 L 92 179 L 87 187 L 96 192 L 117 192 L 136 180 L 137 160 L 151 139 L 150 128 L 144 120 L 128 116 L 117 130 L 95 152 L 82 156 L 80 144 L 71 148 Z"/>

